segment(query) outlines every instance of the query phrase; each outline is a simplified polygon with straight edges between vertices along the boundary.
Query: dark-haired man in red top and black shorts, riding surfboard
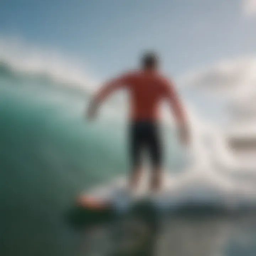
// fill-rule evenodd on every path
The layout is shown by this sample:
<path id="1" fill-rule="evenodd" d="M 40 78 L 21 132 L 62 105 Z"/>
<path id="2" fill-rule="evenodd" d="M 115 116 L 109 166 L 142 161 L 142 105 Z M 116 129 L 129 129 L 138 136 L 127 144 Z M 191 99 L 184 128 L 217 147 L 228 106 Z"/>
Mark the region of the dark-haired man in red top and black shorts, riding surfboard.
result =
<path id="1" fill-rule="evenodd" d="M 172 81 L 158 71 L 158 57 L 155 53 L 145 53 L 141 59 L 141 69 L 129 71 L 108 82 L 93 97 L 87 117 L 94 119 L 103 100 L 118 89 L 127 89 L 130 94 L 130 159 L 132 170 L 129 188 L 137 188 L 142 174 L 141 151 L 148 150 L 152 166 L 151 190 L 161 187 L 162 145 L 159 132 L 158 106 L 167 100 L 172 107 L 181 142 L 188 143 L 188 122 L 185 111 L 175 91 Z"/>

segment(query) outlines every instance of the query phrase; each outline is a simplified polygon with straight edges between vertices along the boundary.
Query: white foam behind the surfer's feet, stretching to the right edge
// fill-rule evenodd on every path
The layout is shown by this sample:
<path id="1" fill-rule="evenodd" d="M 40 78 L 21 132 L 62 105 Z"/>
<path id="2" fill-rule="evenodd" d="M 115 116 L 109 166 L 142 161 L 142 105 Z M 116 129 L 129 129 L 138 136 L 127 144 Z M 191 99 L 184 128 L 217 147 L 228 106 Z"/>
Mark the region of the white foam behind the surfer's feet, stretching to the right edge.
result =
<path id="1" fill-rule="evenodd" d="M 127 203 L 127 198 L 124 197 L 127 190 L 126 180 L 126 177 L 119 177 L 86 193 L 112 199 L 119 206 L 121 203 Z M 236 208 L 245 204 L 254 206 L 256 203 L 255 187 L 248 187 L 242 182 L 235 183 L 231 177 L 212 170 L 187 170 L 185 174 L 175 176 L 165 172 L 163 180 L 162 189 L 155 200 L 165 207 L 196 202 Z M 149 193 L 146 181 L 145 176 L 139 188 L 141 195 Z"/>

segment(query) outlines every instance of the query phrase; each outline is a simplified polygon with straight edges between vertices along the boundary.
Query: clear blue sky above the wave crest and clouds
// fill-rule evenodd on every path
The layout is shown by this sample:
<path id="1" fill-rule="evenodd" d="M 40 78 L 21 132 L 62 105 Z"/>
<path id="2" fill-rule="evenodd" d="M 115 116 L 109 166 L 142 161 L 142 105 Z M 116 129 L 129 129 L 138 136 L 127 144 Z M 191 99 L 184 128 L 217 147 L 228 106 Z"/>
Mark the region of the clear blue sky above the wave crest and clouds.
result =
<path id="1" fill-rule="evenodd" d="M 1 0 L 0 36 L 19 37 L 86 63 L 98 78 L 157 50 L 174 76 L 254 55 L 250 0 Z"/>

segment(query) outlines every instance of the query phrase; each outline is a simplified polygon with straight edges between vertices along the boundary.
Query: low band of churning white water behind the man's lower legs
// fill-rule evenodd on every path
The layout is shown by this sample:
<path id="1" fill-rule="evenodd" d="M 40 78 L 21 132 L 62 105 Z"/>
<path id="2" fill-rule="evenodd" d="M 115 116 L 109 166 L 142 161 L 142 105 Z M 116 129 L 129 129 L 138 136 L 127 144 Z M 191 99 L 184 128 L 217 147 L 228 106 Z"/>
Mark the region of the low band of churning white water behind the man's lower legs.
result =
<path id="1" fill-rule="evenodd" d="M 98 186 L 84 195 L 91 195 L 101 200 L 113 201 L 122 208 L 129 202 L 126 192 L 127 177 L 113 179 L 110 183 Z M 137 191 L 137 198 L 148 198 L 149 173 L 144 177 Z M 184 213 L 210 213 L 210 210 L 223 213 L 243 212 L 256 209 L 255 188 L 248 184 L 236 183 L 232 177 L 205 170 L 189 168 L 182 174 L 165 172 L 162 188 L 148 199 L 156 204 L 158 210 L 172 210 Z M 128 200 L 128 201 L 127 201 Z"/>

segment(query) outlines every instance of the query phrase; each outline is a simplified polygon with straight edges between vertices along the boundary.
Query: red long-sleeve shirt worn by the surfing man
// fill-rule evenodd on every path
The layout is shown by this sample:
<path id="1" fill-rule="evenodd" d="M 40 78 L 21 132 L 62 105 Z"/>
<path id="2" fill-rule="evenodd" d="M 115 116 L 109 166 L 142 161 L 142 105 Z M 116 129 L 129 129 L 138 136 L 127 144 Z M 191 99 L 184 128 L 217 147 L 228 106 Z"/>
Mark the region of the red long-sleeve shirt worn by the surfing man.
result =
<path id="1" fill-rule="evenodd" d="M 132 121 L 157 121 L 158 105 L 168 100 L 179 123 L 184 123 L 181 103 L 174 85 L 153 70 L 139 70 L 125 73 L 107 82 L 97 93 L 97 101 L 103 101 L 113 91 L 126 88 L 130 92 L 130 119 Z"/>

